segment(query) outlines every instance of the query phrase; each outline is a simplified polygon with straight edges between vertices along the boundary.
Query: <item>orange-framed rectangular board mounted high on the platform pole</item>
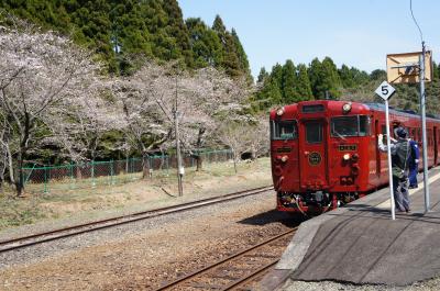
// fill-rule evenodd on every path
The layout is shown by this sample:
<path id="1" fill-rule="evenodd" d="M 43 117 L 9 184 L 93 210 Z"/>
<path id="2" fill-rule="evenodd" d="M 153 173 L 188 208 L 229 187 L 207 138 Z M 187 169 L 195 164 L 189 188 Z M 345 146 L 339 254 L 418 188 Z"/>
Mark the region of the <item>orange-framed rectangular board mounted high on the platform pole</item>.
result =
<path id="1" fill-rule="evenodd" d="M 389 83 L 416 83 L 420 81 L 421 52 L 386 55 L 386 76 Z M 425 81 L 432 80 L 432 54 L 425 53 Z"/>

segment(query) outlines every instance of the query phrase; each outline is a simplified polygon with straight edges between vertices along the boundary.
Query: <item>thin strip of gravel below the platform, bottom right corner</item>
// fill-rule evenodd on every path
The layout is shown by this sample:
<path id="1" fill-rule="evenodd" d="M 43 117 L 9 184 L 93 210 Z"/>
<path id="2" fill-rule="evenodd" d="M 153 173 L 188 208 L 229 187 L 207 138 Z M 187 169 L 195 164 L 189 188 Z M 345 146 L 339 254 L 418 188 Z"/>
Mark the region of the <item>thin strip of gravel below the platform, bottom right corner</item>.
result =
<path id="1" fill-rule="evenodd" d="M 304 282 L 304 281 L 287 281 L 279 291 L 433 291 L 440 290 L 440 278 L 416 282 L 406 287 L 387 287 L 387 286 L 354 286 L 339 282 L 322 281 L 322 282 Z"/>

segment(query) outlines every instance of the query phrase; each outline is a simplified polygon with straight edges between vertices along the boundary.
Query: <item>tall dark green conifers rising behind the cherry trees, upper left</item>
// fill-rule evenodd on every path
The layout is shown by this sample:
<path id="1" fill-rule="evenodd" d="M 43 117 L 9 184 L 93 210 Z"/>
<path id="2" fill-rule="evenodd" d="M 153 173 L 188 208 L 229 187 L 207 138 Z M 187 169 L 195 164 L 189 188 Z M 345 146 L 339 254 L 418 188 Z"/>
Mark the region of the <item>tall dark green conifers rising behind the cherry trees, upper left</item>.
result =
<path id="1" fill-rule="evenodd" d="M 0 9 L 72 36 L 112 74 L 130 74 L 135 59 L 146 57 L 251 79 L 237 32 L 227 31 L 220 16 L 213 30 L 200 20 L 185 22 L 176 0 L 2 0 Z"/>

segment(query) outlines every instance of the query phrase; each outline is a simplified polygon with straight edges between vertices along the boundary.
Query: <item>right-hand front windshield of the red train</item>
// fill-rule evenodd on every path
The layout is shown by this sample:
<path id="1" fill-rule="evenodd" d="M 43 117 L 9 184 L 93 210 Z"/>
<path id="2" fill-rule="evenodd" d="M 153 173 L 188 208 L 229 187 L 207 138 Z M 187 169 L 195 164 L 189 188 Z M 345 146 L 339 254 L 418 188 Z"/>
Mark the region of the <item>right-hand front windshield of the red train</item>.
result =
<path id="1" fill-rule="evenodd" d="M 340 116 L 331 119 L 331 136 L 367 136 L 370 117 L 365 115 Z"/>

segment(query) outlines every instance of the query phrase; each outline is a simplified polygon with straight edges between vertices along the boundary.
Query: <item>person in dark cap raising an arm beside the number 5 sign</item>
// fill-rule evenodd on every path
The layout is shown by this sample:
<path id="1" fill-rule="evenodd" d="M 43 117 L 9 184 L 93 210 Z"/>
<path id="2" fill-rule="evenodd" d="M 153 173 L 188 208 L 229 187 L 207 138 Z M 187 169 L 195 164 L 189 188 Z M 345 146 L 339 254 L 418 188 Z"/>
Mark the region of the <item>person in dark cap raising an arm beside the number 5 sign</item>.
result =
<path id="1" fill-rule="evenodd" d="M 407 131 L 399 126 L 394 130 L 397 141 L 392 141 L 389 149 L 392 152 L 392 172 L 393 172 L 393 192 L 394 202 L 397 211 L 409 212 L 408 194 L 408 168 L 411 155 Z M 387 152 L 387 145 L 384 145 L 383 135 L 378 135 L 378 148 L 381 152 Z"/>

